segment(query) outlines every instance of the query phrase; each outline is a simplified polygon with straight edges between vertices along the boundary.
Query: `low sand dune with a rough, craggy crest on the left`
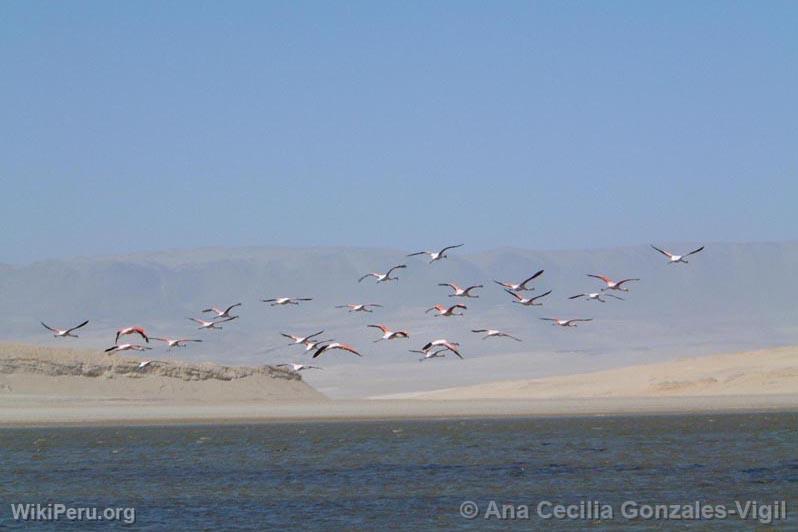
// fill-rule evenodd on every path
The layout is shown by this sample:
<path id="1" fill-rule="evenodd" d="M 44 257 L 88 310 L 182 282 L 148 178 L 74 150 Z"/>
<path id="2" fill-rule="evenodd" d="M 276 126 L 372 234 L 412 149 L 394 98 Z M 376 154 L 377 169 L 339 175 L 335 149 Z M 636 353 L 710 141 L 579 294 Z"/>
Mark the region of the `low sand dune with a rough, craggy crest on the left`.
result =
<path id="1" fill-rule="evenodd" d="M 187 363 L 171 356 L 149 355 L 152 364 L 139 369 L 141 357 L 5 344 L 0 346 L 0 402 L 58 406 L 88 400 L 224 404 L 326 399 L 299 374 L 283 368 Z"/>

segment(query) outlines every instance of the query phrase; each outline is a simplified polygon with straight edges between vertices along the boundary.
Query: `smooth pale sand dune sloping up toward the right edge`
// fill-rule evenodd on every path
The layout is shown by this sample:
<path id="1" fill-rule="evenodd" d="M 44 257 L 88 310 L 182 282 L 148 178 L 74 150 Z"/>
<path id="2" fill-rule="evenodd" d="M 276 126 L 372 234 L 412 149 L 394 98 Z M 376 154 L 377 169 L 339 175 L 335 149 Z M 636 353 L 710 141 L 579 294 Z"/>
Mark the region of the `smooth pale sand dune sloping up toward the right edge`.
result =
<path id="1" fill-rule="evenodd" d="M 593 373 L 500 381 L 387 397 L 556 399 L 732 395 L 798 395 L 798 347 L 682 358 Z"/>

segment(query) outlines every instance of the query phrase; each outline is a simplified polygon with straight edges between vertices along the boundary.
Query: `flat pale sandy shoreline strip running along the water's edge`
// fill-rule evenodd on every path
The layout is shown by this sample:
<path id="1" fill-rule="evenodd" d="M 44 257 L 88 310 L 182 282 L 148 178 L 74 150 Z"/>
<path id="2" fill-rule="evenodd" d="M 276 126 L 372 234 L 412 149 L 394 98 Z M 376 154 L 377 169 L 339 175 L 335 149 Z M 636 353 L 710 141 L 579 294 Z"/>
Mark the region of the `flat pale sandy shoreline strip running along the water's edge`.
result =
<path id="1" fill-rule="evenodd" d="M 18 398 L 19 399 L 19 398 Z M 604 417 L 793 413 L 798 395 L 605 397 L 487 400 L 332 400 L 227 404 L 52 404 L 0 401 L 0 429 L 82 426 L 224 425 L 291 422 L 411 421 L 523 417 Z"/>

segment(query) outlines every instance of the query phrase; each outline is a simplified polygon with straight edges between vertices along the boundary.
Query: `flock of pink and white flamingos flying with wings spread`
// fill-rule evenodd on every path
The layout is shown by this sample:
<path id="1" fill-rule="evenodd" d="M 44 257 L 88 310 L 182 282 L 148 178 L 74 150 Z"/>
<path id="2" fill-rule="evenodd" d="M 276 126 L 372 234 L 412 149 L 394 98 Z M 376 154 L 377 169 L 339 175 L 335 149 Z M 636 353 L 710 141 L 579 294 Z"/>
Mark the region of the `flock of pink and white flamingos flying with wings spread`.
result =
<path id="1" fill-rule="evenodd" d="M 419 255 L 427 255 L 429 257 L 429 263 L 435 263 L 439 260 L 445 259 L 448 257 L 447 252 L 463 246 L 463 244 L 457 244 L 454 246 L 446 246 L 440 251 L 419 251 L 417 253 L 411 253 L 407 255 L 408 257 L 415 257 Z M 685 253 L 684 255 L 676 255 L 670 253 L 668 251 L 664 251 L 654 245 L 651 246 L 653 249 L 667 257 L 669 264 L 678 264 L 683 263 L 687 264 L 687 257 L 690 255 L 694 255 L 703 251 L 704 246 L 701 246 L 698 249 L 694 249 L 689 253 Z M 374 278 L 377 283 L 386 283 L 390 281 L 395 281 L 399 279 L 397 272 L 401 269 L 407 268 L 406 264 L 399 264 L 390 268 L 388 271 L 382 272 L 370 272 L 358 279 L 358 282 L 363 282 L 368 278 Z M 525 297 L 523 294 L 525 292 L 531 292 L 535 290 L 534 287 L 530 286 L 532 281 L 536 280 L 538 277 L 543 275 L 543 270 L 535 272 L 533 275 L 524 279 L 520 283 L 513 283 L 513 282 L 502 282 L 496 281 L 493 282 L 497 285 L 504 288 L 504 291 L 507 292 L 510 296 L 513 297 L 513 303 L 517 303 L 519 305 L 524 306 L 541 306 L 542 303 L 539 303 L 538 300 L 548 296 L 551 294 L 551 290 L 544 292 L 540 295 L 536 295 L 534 297 Z M 588 277 L 592 277 L 601 281 L 604 286 L 598 292 L 587 292 L 576 294 L 568 299 L 580 299 L 584 298 L 587 301 L 599 301 L 601 303 L 605 303 L 608 297 L 623 300 L 622 297 L 619 297 L 612 292 L 628 292 L 629 289 L 626 288 L 627 283 L 631 283 L 634 281 L 639 281 L 640 279 L 637 278 L 628 278 L 628 279 L 621 279 L 619 281 L 614 281 L 611 278 L 607 277 L 606 275 L 596 275 L 596 274 L 587 274 Z M 449 294 L 449 297 L 461 297 L 464 299 L 469 298 L 478 298 L 479 296 L 474 294 L 475 290 L 484 288 L 483 285 L 473 285 L 468 287 L 460 287 L 456 283 L 439 283 L 438 286 L 446 286 L 452 290 Z M 277 297 L 272 299 L 262 299 L 264 303 L 269 303 L 271 306 L 285 306 L 285 305 L 299 305 L 305 301 L 311 301 L 312 298 L 302 298 L 302 297 Z M 240 307 L 241 303 L 236 303 L 234 305 L 230 305 L 227 308 L 217 308 L 217 307 L 210 307 L 202 310 L 204 314 L 210 314 L 213 317 L 210 320 L 198 319 L 198 318 L 188 318 L 189 320 L 197 323 L 199 326 L 198 329 L 206 329 L 206 330 L 218 330 L 222 329 L 221 324 L 225 322 L 232 321 L 238 318 L 237 315 L 231 314 L 233 309 L 236 307 Z M 372 312 L 372 308 L 379 308 L 382 305 L 377 304 L 367 304 L 367 303 L 358 303 L 358 304 L 347 304 L 347 305 L 338 305 L 336 308 L 346 308 L 349 312 Z M 426 310 L 427 313 L 434 312 L 434 316 L 441 316 L 441 317 L 451 317 L 451 316 L 462 316 L 462 312 L 466 310 L 467 307 L 461 303 L 457 303 L 451 306 L 446 305 L 435 305 L 434 307 L 430 307 Z M 549 321 L 554 326 L 559 327 L 576 327 L 580 322 L 588 322 L 592 321 L 592 318 L 569 318 L 569 319 L 561 319 L 561 318 L 540 318 L 544 321 Z M 71 327 L 69 329 L 57 329 L 55 327 L 50 327 L 44 322 L 41 322 L 42 325 L 53 333 L 54 337 L 57 338 L 77 338 L 78 335 L 74 334 L 75 331 L 78 329 L 86 326 L 89 321 L 86 320 L 83 323 Z M 368 325 L 367 327 L 379 329 L 382 332 L 382 336 L 375 340 L 375 342 L 380 342 L 382 340 L 396 340 L 399 338 L 410 338 L 410 335 L 407 331 L 402 330 L 391 330 L 385 325 L 377 324 L 377 325 Z M 498 329 L 472 329 L 471 332 L 478 333 L 483 335 L 483 339 L 487 338 L 508 338 L 511 340 L 515 340 L 520 342 L 521 339 L 517 338 L 511 334 L 503 332 Z M 303 345 L 305 348 L 305 352 L 313 351 L 313 358 L 318 358 L 323 353 L 333 351 L 333 350 L 341 350 L 341 351 L 348 351 L 353 353 L 357 356 L 362 356 L 357 349 L 353 346 L 336 342 L 332 340 L 321 340 L 319 336 L 324 334 L 324 331 L 318 331 L 313 334 L 309 334 L 307 336 L 296 336 L 293 334 L 286 334 L 280 333 L 282 336 L 289 338 L 291 343 L 289 345 Z M 129 335 L 138 335 L 140 336 L 146 343 L 149 343 L 150 340 L 157 340 L 160 342 L 164 342 L 168 349 L 172 349 L 173 347 L 185 347 L 187 344 L 192 342 L 202 342 L 199 339 L 193 338 L 159 338 L 155 336 L 149 336 L 147 332 L 142 327 L 124 327 L 116 331 L 116 338 L 114 339 L 114 345 L 105 349 L 105 352 L 108 354 L 120 352 L 120 351 L 147 351 L 151 348 L 141 344 L 134 344 L 134 343 L 119 343 L 119 338 L 122 336 L 129 336 Z M 439 338 L 437 340 L 432 340 L 427 342 L 421 349 L 411 349 L 411 352 L 420 353 L 422 354 L 422 358 L 420 360 L 428 360 L 431 358 L 440 358 L 446 356 L 446 353 L 453 353 L 459 358 L 463 358 L 460 354 L 460 344 L 458 342 L 453 342 L 447 340 L 446 338 Z M 144 368 L 152 363 L 151 360 L 144 360 L 139 364 L 139 368 Z M 293 371 L 302 371 L 306 369 L 321 369 L 318 366 L 311 366 L 306 364 L 278 364 L 278 366 L 283 367 L 290 367 Z"/>

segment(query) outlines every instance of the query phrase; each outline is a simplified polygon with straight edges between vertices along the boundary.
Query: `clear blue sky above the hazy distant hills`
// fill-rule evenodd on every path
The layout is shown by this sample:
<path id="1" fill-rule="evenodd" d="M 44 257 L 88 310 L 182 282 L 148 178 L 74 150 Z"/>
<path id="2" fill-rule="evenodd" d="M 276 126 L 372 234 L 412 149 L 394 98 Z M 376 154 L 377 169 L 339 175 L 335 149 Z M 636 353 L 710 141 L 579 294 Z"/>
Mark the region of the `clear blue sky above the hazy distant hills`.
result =
<path id="1" fill-rule="evenodd" d="M 798 238 L 798 2 L 0 3 L 0 262 Z"/>

